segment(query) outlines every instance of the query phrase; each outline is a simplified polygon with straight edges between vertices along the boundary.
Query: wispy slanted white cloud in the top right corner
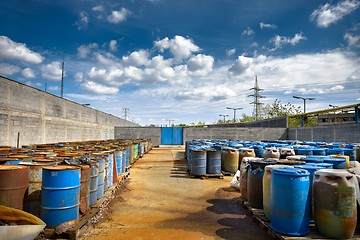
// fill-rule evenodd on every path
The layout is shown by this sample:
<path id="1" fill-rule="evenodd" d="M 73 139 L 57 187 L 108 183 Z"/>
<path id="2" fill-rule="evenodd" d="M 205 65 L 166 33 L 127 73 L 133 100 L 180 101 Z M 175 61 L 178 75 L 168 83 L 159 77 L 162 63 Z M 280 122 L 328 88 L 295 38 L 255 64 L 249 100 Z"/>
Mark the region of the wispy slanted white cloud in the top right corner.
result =
<path id="1" fill-rule="evenodd" d="M 359 6 L 360 2 L 358 0 L 343 0 L 336 5 L 326 3 L 316 9 L 310 15 L 310 19 L 315 21 L 318 27 L 327 28 L 356 10 Z"/>

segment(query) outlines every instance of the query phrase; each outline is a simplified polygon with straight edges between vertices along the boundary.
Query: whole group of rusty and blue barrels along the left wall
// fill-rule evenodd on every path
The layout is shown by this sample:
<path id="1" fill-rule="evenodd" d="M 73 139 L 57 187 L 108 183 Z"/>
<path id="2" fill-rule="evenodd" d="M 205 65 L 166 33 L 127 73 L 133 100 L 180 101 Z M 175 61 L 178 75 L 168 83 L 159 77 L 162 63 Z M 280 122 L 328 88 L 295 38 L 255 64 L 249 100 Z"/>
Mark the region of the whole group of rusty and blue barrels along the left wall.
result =
<path id="1" fill-rule="evenodd" d="M 78 221 L 79 215 L 96 206 L 107 189 L 121 180 L 128 166 L 151 147 L 150 140 L 122 142 L 121 146 L 107 141 L 91 151 L 86 164 L 66 165 L 51 158 L 5 162 L 0 165 L 0 204 L 32 213 L 48 227 Z"/>

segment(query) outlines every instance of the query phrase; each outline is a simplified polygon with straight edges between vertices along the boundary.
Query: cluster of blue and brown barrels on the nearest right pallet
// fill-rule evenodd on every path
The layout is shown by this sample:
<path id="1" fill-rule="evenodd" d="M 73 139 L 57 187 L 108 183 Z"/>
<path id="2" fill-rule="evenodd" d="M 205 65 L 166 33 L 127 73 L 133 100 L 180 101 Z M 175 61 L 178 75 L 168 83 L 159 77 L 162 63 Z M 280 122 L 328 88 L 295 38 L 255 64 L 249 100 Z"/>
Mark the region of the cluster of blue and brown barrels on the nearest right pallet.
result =
<path id="1" fill-rule="evenodd" d="M 253 208 L 264 209 L 270 227 L 281 234 L 304 236 L 315 223 L 329 238 L 351 238 L 356 228 L 355 175 L 333 169 L 331 163 L 274 165 L 273 160 L 249 160 L 246 192 Z"/>

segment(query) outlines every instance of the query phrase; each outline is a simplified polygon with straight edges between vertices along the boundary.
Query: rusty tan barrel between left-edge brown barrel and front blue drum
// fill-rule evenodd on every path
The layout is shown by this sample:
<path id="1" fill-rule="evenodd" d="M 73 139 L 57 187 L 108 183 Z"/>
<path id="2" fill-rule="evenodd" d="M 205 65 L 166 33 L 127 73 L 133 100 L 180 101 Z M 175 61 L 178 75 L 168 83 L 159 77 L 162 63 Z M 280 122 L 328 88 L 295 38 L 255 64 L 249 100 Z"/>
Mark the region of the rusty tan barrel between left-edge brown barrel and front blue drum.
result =
<path id="1" fill-rule="evenodd" d="M 55 162 L 23 162 L 22 166 L 29 167 L 29 189 L 26 211 L 40 217 L 41 211 L 41 183 L 42 183 L 42 169 L 45 166 L 55 165 Z"/>

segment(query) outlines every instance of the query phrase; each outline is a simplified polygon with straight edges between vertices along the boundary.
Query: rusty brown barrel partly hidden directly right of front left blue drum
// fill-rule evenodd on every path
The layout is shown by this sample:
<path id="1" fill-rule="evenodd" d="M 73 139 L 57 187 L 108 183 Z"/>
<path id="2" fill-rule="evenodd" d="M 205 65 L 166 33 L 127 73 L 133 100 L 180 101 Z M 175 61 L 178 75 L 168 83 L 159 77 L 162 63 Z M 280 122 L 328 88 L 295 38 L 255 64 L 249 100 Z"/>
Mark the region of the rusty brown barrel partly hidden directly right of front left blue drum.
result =
<path id="1" fill-rule="evenodd" d="M 86 213 L 90 208 L 90 176 L 91 168 L 89 165 L 81 165 L 80 178 L 80 211 Z"/>

